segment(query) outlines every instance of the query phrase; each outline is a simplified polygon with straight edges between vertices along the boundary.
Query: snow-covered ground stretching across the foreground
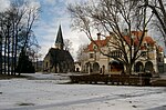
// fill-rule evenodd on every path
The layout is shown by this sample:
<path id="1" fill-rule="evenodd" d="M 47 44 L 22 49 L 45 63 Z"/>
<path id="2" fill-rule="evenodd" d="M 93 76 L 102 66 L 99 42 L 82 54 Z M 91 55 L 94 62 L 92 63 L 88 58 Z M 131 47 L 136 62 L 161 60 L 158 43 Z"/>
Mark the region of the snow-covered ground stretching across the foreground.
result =
<path id="1" fill-rule="evenodd" d="M 68 84 L 66 74 L 0 80 L 0 110 L 166 110 L 166 87 Z"/>

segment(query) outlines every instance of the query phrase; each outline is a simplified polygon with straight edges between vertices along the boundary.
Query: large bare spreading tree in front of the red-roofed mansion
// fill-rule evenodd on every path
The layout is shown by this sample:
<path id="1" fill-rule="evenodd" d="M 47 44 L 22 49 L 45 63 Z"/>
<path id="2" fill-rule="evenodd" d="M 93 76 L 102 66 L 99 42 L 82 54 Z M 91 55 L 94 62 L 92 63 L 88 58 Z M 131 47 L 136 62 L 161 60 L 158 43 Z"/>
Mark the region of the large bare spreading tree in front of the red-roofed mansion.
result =
<path id="1" fill-rule="evenodd" d="M 116 49 L 122 53 L 121 58 L 110 56 L 100 48 L 100 52 L 121 61 L 126 67 L 126 72 L 132 73 L 134 62 L 142 56 L 139 49 L 151 21 L 156 23 L 164 34 L 166 43 L 166 11 L 164 0 L 91 0 L 69 4 L 68 10 L 72 18 L 72 27 L 85 32 L 86 37 L 95 43 L 93 31 L 108 33 L 116 42 L 110 41 L 110 49 Z M 124 38 L 127 30 L 128 40 Z M 132 31 L 141 31 L 142 34 L 133 36 Z M 134 40 L 137 39 L 137 44 Z M 125 42 L 125 43 L 124 43 Z M 97 46 L 97 44 L 96 44 Z M 111 50 L 110 50 L 111 51 Z M 129 57 L 128 57 L 129 54 Z"/>

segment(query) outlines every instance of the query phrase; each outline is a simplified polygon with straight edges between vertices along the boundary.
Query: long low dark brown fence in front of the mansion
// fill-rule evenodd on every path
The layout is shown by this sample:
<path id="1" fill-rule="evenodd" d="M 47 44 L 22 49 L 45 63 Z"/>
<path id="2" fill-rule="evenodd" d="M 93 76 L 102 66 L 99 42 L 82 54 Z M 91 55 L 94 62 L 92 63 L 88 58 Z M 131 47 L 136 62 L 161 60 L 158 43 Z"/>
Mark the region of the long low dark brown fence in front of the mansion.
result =
<path id="1" fill-rule="evenodd" d="M 138 74 L 82 74 L 82 76 L 70 76 L 73 83 L 110 83 L 110 84 L 122 84 L 122 86 L 151 86 L 151 76 Z"/>

